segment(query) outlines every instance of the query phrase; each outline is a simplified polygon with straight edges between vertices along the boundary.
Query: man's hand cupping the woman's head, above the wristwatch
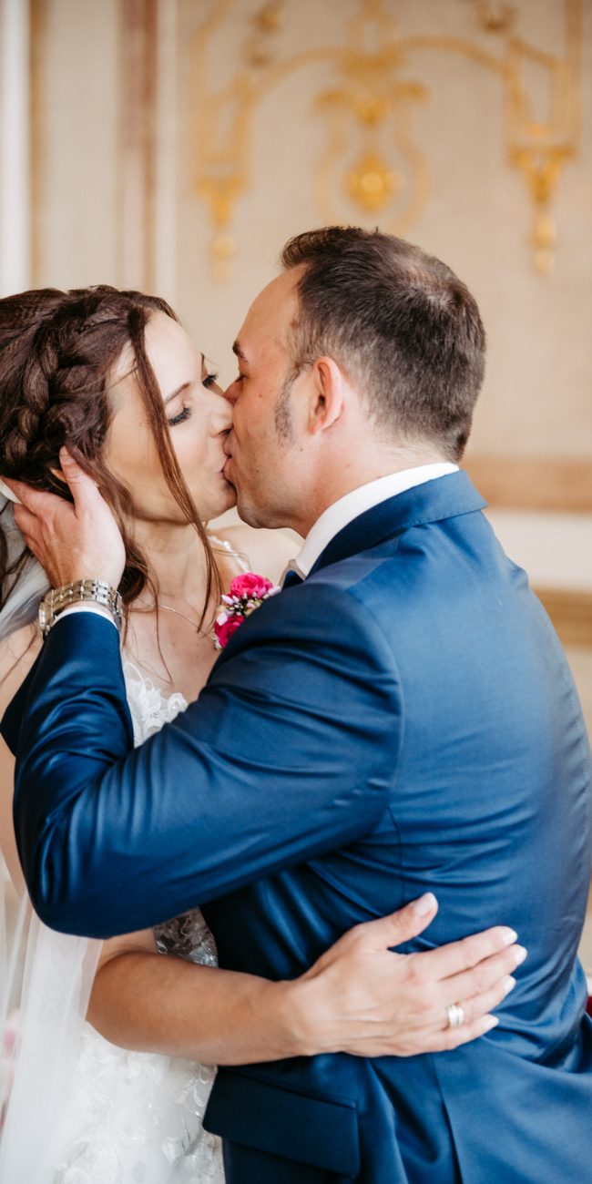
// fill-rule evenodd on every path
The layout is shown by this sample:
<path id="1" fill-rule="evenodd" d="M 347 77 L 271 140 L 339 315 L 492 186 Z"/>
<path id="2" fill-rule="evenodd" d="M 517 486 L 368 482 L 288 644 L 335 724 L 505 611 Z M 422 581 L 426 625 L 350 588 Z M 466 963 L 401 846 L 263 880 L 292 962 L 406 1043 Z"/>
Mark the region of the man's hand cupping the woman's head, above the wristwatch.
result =
<path id="1" fill-rule="evenodd" d="M 59 461 L 73 506 L 5 478 L 20 502 L 14 506 L 14 521 L 53 587 L 98 579 L 116 588 L 126 566 L 120 528 L 95 482 L 66 449 L 62 449 Z"/>

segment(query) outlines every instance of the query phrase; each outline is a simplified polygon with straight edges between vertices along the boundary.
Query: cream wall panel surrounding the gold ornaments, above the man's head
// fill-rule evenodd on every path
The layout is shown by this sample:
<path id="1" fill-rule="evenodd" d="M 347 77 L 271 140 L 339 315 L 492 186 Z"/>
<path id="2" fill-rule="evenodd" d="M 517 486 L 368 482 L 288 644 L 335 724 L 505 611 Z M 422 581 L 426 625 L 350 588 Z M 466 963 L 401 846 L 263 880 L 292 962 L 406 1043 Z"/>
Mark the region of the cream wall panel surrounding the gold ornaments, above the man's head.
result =
<path id="1" fill-rule="evenodd" d="M 189 30 L 199 22 L 194 4 L 181 5 Z M 221 85 L 237 69 L 243 26 L 231 7 L 212 37 L 208 82 Z M 480 30 L 466 0 L 393 0 L 385 11 L 400 37 L 443 34 L 468 39 L 501 56 L 500 38 Z M 521 0 L 517 31 L 539 49 L 556 52 L 564 6 L 558 0 Z M 285 6 L 274 49 L 277 59 L 311 45 L 346 44 L 356 0 L 298 0 Z M 243 17 L 243 24 L 245 18 Z M 433 193 L 407 237 L 449 262 L 475 291 L 489 334 L 485 388 L 474 427 L 472 450 L 488 453 L 578 456 L 592 453 L 592 7 L 584 13 L 584 135 L 578 162 L 567 165 L 556 191 L 559 227 L 555 272 L 543 277 L 532 264 L 532 206 L 526 182 L 504 157 L 501 79 L 455 52 L 410 54 L 403 77 L 429 90 L 413 115 L 414 139 L 430 163 Z M 324 220 L 315 204 L 315 166 L 326 146 L 326 122 L 315 114 L 316 94 L 339 84 L 326 64 L 287 78 L 257 108 L 250 157 L 252 185 L 237 204 L 234 277 L 202 290 L 210 225 L 192 187 L 195 161 L 191 70 L 184 73 L 181 110 L 180 226 L 184 252 L 179 303 L 208 349 L 226 367 L 229 334 L 240 323 L 253 291 L 271 274 L 278 246 L 291 233 Z M 199 118 L 199 115 L 198 115 Z M 587 131 L 587 134 L 586 134 Z M 353 136 L 355 148 L 355 135 Z M 189 146 L 189 152 L 186 150 Z M 343 153 L 343 163 L 352 160 Z M 395 166 L 400 157 L 394 154 Z M 360 221 L 346 199 L 334 201 L 339 220 Z M 377 218 L 365 218 L 372 225 Z M 379 219 L 381 220 L 381 219 Z M 385 219 L 386 220 L 386 219 Z M 207 281 L 206 281 L 207 282 Z"/>

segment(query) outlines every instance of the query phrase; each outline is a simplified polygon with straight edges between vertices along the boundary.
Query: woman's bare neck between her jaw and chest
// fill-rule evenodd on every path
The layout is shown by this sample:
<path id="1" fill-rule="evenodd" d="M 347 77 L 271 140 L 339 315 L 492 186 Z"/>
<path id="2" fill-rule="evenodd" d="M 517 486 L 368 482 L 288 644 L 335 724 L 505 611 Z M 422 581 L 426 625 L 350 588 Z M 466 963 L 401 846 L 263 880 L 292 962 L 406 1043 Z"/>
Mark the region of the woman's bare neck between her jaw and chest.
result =
<path id="1" fill-rule="evenodd" d="M 136 521 L 134 538 L 148 562 L 160 599 L 202 603 L 207 565 L 204 545 L 193 526 Z"/>

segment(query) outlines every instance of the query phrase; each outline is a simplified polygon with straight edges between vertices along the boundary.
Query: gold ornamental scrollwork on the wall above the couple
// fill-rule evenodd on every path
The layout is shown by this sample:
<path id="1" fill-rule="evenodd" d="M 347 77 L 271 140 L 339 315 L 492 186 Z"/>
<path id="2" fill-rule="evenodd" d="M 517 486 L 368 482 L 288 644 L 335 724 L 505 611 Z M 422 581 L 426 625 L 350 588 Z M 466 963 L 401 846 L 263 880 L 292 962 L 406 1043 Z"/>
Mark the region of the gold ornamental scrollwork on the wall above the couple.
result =
<path id="1" fill-rule="evenodd" d="M 433 191 L 430 161 L 414 130 L 420 105 L 437 101 L 430 79 L 413 76 L 414 57 L 425 50 L 470 59 L 498 78 L 506 111 L 500 160 L 506 152 L 526 181 L 534 265 L 549 272 L 556 238 L 552 202 L 579 146 L 581 0 L 562 0 L 565 37 L 556 54 L 521 38 L 520 6 L 500 0 L 458 0 L 468 33 L 485 32 L 488 47 L 483 38 L 400 37 L 394 2 L 358 0 L 354 17 L 336 31 L 343 44 L 334 38 L 281 54 L 277 34 L 294 2 L 265 0 L 243 17 L 240 0 L 214 0 L 194 34 L 195 185 L 210 210 L 214 276 L 224 279 L 232 271 L 233 218 L 253 180 L 260 104 L 311 65 L 322 65 L 328 82 L 310 95 L 310 115 L 323 124 L 326 147 L 303 179 L 314 188 L 320 215 L 332 223 L 352 220 L 355 213 L 368 224 L 379 219 L 393 233 L 417 224 Z M 208 82 L 210 47 L 225 21 L 237 18 L 244 36 L 232 76 L 217 89 Z"/>

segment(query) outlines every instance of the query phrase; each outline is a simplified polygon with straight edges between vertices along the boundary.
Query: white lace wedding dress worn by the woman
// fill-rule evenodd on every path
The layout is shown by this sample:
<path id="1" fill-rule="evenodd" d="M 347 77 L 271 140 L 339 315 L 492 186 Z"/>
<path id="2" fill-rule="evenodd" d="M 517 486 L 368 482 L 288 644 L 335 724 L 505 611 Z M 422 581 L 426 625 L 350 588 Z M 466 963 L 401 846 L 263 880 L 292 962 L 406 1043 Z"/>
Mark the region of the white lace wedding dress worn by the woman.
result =
<path id="1" fill-rule="evenodd" d="M 123 669 L 140 745 L 187 701 L 166 697 L 131 662 Z M 161 954 L 217 965 L 199 909 L 154 932 Z M 52 1184 L 223 1184 L 220 1140 L 202 1127 L 214 1074 L 211 1066 L 117 1048 L 85 1023 Z"/>

